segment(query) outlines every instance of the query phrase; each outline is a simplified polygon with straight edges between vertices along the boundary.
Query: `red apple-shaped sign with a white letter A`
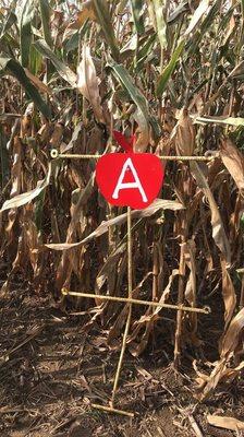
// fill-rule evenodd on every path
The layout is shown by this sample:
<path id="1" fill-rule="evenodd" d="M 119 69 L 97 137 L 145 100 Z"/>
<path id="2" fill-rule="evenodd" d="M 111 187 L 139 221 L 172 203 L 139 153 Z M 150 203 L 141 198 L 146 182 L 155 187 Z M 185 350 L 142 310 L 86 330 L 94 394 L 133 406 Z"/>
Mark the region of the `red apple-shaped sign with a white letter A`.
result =
<path id="1" fill-rule="evenodd" d="M 113 135 L 126 153 L 109 153 L 99 158 L 96 180 L 105 199 L 117 206 L 147 208 L 158 196 L 163 181 L 160 160 L 151 153 L 133 153 L 120 132 Z"/>

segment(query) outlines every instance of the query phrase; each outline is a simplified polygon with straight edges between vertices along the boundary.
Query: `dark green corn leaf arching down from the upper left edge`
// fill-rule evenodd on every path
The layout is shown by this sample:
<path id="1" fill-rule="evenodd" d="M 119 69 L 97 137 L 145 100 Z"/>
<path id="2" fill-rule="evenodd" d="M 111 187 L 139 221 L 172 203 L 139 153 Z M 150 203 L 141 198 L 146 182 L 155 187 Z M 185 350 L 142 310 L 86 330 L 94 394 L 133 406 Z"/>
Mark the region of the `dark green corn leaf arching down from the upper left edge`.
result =
<path id="1" fill-rule="evenodd" d="M 15 59 L 9 57 L 0 57 L 0 70 L 9 70 L 14 75 L 20 84 L 25 88 L 27 96 L 35 103 L 36 107 L 40 113 L 48 119 L 51 118 L 51 111 L 49 106 L 41 98 L 37 88 L 28 80 L 23 67 Z"/>

